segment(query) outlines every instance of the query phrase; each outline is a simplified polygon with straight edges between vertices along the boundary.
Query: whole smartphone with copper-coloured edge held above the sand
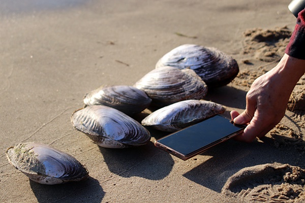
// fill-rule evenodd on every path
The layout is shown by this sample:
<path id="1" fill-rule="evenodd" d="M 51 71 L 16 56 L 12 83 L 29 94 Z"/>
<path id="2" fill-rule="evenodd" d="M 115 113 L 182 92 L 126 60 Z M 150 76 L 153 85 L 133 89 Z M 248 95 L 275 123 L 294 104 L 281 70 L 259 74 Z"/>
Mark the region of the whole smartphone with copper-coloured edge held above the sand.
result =
<path id="1" fill-rule="evenodd" d="M 171 133 L 154 142 L 155 146 L 187 160 L 212 146 L 243 132 L 245 125 L 237 125 L 230 119 L 215 115 L 197 124 Z"/>

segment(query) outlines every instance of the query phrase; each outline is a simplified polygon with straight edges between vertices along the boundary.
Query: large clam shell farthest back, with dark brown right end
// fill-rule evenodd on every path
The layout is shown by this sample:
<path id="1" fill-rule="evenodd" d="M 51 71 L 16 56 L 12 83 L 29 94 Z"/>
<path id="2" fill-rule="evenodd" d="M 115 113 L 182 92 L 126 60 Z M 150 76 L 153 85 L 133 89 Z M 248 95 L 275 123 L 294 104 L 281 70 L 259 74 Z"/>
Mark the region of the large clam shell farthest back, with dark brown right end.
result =
<path id="1" fill-rule="evenodd" d="M 186 44 L 165 54 L 156 68 L 169 65 L 178 69 L 194 70 L 208 87 L 219 87 L 230 83 L 238 74 L 235 59 L 214 47 Z"/>

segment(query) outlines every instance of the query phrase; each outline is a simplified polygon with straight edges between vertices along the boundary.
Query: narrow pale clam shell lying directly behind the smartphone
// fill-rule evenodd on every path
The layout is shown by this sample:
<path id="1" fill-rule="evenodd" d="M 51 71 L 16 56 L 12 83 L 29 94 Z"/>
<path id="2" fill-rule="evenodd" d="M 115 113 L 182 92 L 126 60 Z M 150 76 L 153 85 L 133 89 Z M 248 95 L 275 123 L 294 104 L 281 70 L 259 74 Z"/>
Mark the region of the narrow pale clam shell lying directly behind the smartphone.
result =
<path id="1" fill-rule="evenodd" d="M 206 100 L 185 100 L 163 107 L 142 120 L 142 125 L 174 132 L 198 123 L 205 118 L 222 114 L 225 107 Z"/>

